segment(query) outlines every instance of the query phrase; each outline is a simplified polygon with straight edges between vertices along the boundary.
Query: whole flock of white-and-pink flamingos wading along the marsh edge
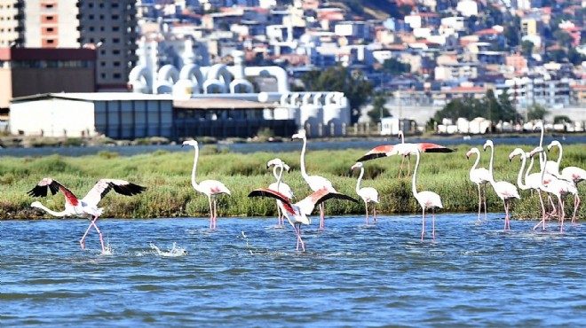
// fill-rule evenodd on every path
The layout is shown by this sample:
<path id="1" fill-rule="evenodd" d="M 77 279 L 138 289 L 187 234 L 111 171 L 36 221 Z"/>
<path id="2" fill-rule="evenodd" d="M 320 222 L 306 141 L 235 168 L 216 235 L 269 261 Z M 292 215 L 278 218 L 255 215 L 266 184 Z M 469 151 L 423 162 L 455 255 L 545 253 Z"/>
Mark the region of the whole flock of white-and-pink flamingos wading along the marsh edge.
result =
<path id="1" fill-rule="evenodd" d="M 560 232 L 563 232 L 564 219 L 566 216 L 564 212 L 565 199 L 568 195 L 574 195 L 574 215 L 572 216 L 572 221 L 575 222 L 577 209 L 580 206 L 580 197 L 578 195 L 577 184 L 586 179 L 586 171 L 584 171 L 584 169 L 582 168 L 566 167 L 561 172 L 559 172 L 559 164 L 562 157 L 562 145 L 559 144 L 558 141 L 552 141 L 549 145 L 547 145 L 546 148 L 548 151 L 554 146 L 557 146 L 559 148 L 558 160 L 547 160 L 547 153 L 545 152 L 545 148 L 543 148 L 542 146 L 543 125 L 537 125 L 536 128 L 541 128 L 542 132 L 539 146 L 535 147 L 535 149 L 531 152 L 525 152 L 520 148 L 516 148 L 509 155 L 509 160 L 513 160 L 513 158 L 517 156 L 519 156 L 521 160 L 521 167 L 519 169 L 519 176 L 517 179 L 519 189 L 537 191 L 537 193 L 539 194 L 539 199 L 542 206 L 542 221 L 535 225 L 534 230 L 537 229 L 539 225 L 542 225 L 542 229 L 544 230 L 545 220 L 549 216 L 558 215 L 559 220 L 561 222 Z M 417 191 L 417 169 L 419 168 L 419 162 L 421 160 L 421 152 L 454 152 L 454 150 L 441 146 L 439 144 L 405 143 L 402 136 L 402 132 L 400 132 L 400 137 L 402 140 L 400 144 L 386 144 L 377 146 L 376 148 L 367 152 L 364 156 L 360 157 L 360 159 L 358 159 L 356 163 L 352 165 L 352 170 L 360 169 L 360 176 L 358 177 L 358 180 L 356 182 L 356 194 L 360 196 L 360 198 L 364 202 L 366 209 L 366 223 L 368 224 L 368 204 L 370 203 L 373 204 L 372 216 L 374 222 L 376 223 L 376 204 L 380 202 L 380 198 L 376 189 L 372 187 L 360 187 L 362 176 L 364 175 L 363 162 L 366 160 L 373 160 L 381 157 L 400 155 L 403 157 L 403 159 L 401 161 L 399 175 L 401 174 L 401 171 L 403 169 L 403 163 L 405 158 L 408 158 L 409 176 L 411 173 L 410 156 L 415 155 L 416 165 L 412 177 L 412 192 L 417 203 L 422 208 L 423 227 L 421 232 L 421 238 L 423 240 L 425 235 L 426 210 L 432 211 L 432 237 L 435 238 L 435 211 L 437 208 L 443 208 L 443 205 L 441 203 L 440 195 L 438 195 L 437 193 L 433 191 Z M 266 164 L 266 167 L 273 167 L 273 175 L 275 176 L 277 181 L 269 185 L 267 188 L 258 188 L 253 191 L 250 191 L 249 197 L 268 197 L 276 199 L 276 206 L 279 214 L 279 224 L 283 224 L 285 218 L 287 218 L 287 220 L 289 221 L 290 225 L 293 227 L 297 235 L 297 251 L 299 250 L 299 246 L 301 245 L 303 251 L 305 252 L 305 243 L 301 238 L 301 226 L 302 224 L 308 225 L 311 223 L 311 219 L 308 217 L 308 215 L 312 214 L 315 207 L 320 208 L 320 230 L 323 230 L 324 202 L 326 200 L 344 199 L 354 202 L 358 202 L 358 200 L 353 199 L 351 196 L 337 192 L 332 183 L 323 176 L 309 176 L 305 170 L 305 151 L 307 148 L 307 137 L 305 136 L 305 131 L 300 130 L 291 138 L 303 140 L 303 147 L 301 150 L 300 157 L 301 176 L 312 189 L 313 193 L 307 196 L 305 199 L 297 201 L 296 203 L 292 203 L 291 199 L 294 199 L 295 195 L 289 187 L 289 185 L 282 182 L 283 171 L 289 171 L 289 166 L 280 159 L 274 159 L 270 160 Z M 182 146 L 193 146 L 195 149 L 194 167 L 192 169 L 191 174 L 191 183 L 195 191 L 199 191 L 208 197 L 208 202 L 210 206 L 210 229 L 215 230 L 218 218 L 216 198 L 220 194 L 230 195 L 230 191 L 228 190 L 225 184 L 222 184 L 217 180 L 204 180 L 197 183 L 195 179 L 195 174 L 197 170 L 197 161 L 199 159 L 198 143 L 195 140 L 188 140 L 185 141 L 182 144 Z M 488 147 L 491 148 L 490 164 L 488 169 L 478 168 L 480 160 L 480 152 L 478 148 L 471 148 L 471 150 L 466 153 L 466 158 L 468 159 L 470 159 L 471 155 L 476 154 L 476 161 L 474 162 L 470 170 L 470 179 L 472 183 L 477 184 L 478 186 L 478 219 L 480 220 L 480 213 L 483 205 L 485 220 L 487 219 L 486 189 L 487 184 L 490 184 L 495 190 L 495 193 L 498 195 L 498 197 L 503 200 L 505 212 L 504 230 L 510 230 L 511 226 L 509 223 L 509 207 L 512 199 L 520 199 L 519 191 L 517 188 L 518 186 L 515 186 L 514 184 L 511 184 L 506 181 L 495 181 L 493 174 L 495 146 L 491 140 L 487 140 L 487 142 L 483 146 L 483 150 L 486 151 Z M 530 174 L 529 172 L 534 166 L 535 155 L 537 155 L 537 157 L 539 158 L 540 172 Z M 530 160 L 530 164 L 526 170 L 525 168 L 527 160 Z M 523 182 L 523 177 L 525 177 L 525 182 Z M 106 247 L 104 246 L 104 238 L 102 236 L 101 231 L 98 228 L 98 225 L 96 225 L 96 221 L 98 220 L 99 216 L 103 213 L 103 208 L 98 207 L 99 201 L 102 198 L 104 198 L 109 191 L 112 190 L 122 195 L 132 196 L 145 191 L 146 188 L 138 184 L 129 183 L 124 180 L 101 179 L 96 185 L 93 186 L 91 191 L 89 191 L 83 199 L 78 199 L 75 196 L 75 194 L 72 191 L 70 191 L 65 185 L 60 184 L 58 181 L 53 180 L 51 177 L 45 177 L 38 184 L 36 184 L 36 186 L 31 191 L 28 191 L 28 195 L 33 197 L 45 197 L 47 196 L 48 191 L 51 191 L 51 194 L 53 195 L 59 191 L 62 191 L 65 195 L 65 209 L 63 211 L 53 211 L 47 207 L 44 207 L 38 201 L 33 202 L 31 204 L 31 207 L 40 208 L 48 214 L 54 216 L 79 216 L 89 218 L 91 222 L 87 230 L 85 230 L 83 237 L 80 239 L 80 245 L 82 246 L 82 248 L 84 248 L 84 239 L 93 227 L 99 234 L 102 253 L 105 253 Z M 550 202 L 551 207 L 553 208 L 553 210 L 549 214 L 546 213 L 545 206 L 543 204 L 541 194 L 542 191 L 548 195 L 548 201 Z M 551 198 L 552 196 L 557 198 L 557 206 L 554 204 L 553 199 Z"/>

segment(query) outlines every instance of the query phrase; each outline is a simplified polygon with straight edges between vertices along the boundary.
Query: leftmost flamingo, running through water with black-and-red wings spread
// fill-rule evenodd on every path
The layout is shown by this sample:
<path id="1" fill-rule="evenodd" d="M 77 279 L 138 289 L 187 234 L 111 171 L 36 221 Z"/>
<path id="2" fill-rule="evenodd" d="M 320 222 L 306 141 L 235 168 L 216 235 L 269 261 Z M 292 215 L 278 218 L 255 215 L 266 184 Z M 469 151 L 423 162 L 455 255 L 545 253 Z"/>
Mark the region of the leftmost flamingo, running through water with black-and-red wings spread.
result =
<path id="1" fill-rule="evenodd" d="M 79 245 L 82 246 L 82 249 L 85 249 L 83 241 L 90 232 L 91 227 L 94 227 L 96 231 L 98 231 L 99 241 L 102 245 L 102 253 L 106 253 L 104 237 L 102 236 L 102 232 L 99 230 L 98 225 L 96 225 L 96 221 L 98 221 L 99 216 L 104 212 L 103 207 L 98 207 L 99 201 L 106 197 L 107 193 L 111 190 L 114 190 L 121 195 L 132 196 L 137 195 L 142 191 L 146 191 L 147 188 L 124 180 L 100 179 L 98 183 L 91 188 L 87 195 L 83 197 L 83 199 L 78 199 L 65 185 L 59 183 L 57 180 L 53 180 L 51 177 L 45 177 L 36 184 L 35 188 L 28 191 L 28 196 L 46 197 L 47 191 L 51 191 L 52 195 L 62 191 L 63 194 L 65 194 L 65 209 L 61 212 L 56 212 L 50 208 L 44 207 L 39 201 L 34 201 L 30 206 L 40 208 L 53 216 L 78 216 L 91 219 L 90 226 L 85 230 L 83 237 L 79 240 Z"/>

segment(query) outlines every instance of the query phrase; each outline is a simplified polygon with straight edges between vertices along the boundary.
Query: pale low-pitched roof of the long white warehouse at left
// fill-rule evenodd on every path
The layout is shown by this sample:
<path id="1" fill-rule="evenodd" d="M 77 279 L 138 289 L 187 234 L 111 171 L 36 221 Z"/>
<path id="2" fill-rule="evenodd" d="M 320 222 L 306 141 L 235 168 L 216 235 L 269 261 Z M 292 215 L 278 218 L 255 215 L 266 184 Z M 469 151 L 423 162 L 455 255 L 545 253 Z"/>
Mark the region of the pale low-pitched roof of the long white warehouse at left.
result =
<path id="1" fill-rule="evenodd" d="M 59 92 L 39 93 L 36 95 L 12 98 L 12 102 L 43 100 L 49 98 L 70 99 L 80 101 L 107 100 L 172 100 L 170 95 L 150 95 L 136 92 Z"/>

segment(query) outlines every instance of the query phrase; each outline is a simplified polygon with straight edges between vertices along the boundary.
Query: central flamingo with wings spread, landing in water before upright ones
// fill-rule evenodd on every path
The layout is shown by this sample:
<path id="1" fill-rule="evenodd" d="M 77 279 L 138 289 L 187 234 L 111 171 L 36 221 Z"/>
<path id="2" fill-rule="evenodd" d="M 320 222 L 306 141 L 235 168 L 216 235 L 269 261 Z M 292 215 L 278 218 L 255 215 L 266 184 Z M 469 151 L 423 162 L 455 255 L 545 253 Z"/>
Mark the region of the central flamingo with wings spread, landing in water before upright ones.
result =
<path id="1" fill-rule="evenodd" d="M 308 218 L 307 215 L 312 214 L 315 206 L 320 205 L 328 199 L 345 199 L 358 203 L 356 199 L 352 199 L 350 196 L 346 196 L 336 191 L 329 191 L 327 189 L 314 191 L 311 195 L 295 204 L 292 204 L 289 198 L 281 192 L 273 191 L 268 188 L 259 188 L 250 191 L 249 197 L 269 197 L 280 200 L 281 203 L 279 206 L 281 207 L 281 211 L 283 215 L 287 217 L 289 224 L 291 224 L 293 230 L 295 230 L 295 233 L 297 234 L 297 251 L 299 250 L 299 244 L 301 244 L 304 252 L 305 243 L 303 239 L 301 239 L 301 224 L 308 225 L 312 223 L 312 220 Z"/>

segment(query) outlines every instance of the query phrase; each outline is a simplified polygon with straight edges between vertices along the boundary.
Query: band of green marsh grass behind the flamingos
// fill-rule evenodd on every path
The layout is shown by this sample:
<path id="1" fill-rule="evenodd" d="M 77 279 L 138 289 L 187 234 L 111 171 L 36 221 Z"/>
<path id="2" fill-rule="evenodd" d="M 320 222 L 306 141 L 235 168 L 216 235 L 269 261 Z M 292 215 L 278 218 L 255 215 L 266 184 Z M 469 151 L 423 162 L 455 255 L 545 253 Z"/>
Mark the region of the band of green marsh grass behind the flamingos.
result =
<path id="1" fill-rule="evenodd" d="M 495 145 L 495 179 L 515 183 L 520 168 L 519 160 L 509 162 L 509 153 L 517 146 L 529 151 L 531 145 Z M 301 145 L 300 145 L 301 147 Z M 561 167 L 586 167 L 586 154 L 583 144 L 564 147 Z M 249 191 L 273 183 L 271 170 L 265 168 L 268 160 L 281 158 L 289 164 L 292 171 L 283 180 L 296 192 L 297 199 L 311 193 L 299 172 L 298 152 L 255 152 L 242 154 L 219 152 L 215 145 L 201 145 L 201 155 L 197 168 L 197 180 L 216 179 L 222 181 L 232 191 L 232 196 L 218 198 L 220 216 L 258 216 L 276 215 L 273 199 L 247 197 Z M 440 194 L 444 204 L 441 212 L 472 212 L 478 208 L 477 187 L 468 178 L 474 158 L 466 160 L 465 153 L 470 145 L 460 144 L 456 152 L 447 154 L 424 153 L 417 176 L 418 191 L 434 191 Z M 344 151 L 312 151 L 311 141 L 305 156 L 306 168 L 310 175 L 325 176 L 332 181 L 337 190 L 358 198 L 354 188 L 358 172 L 350 171 L 354 160 L 366 149 Z M 550 160 L 557 160 L 558 150 L 550 152 Z M 415 156 L 412 165 L 415 166 Z M 104 217 L 154 218 L 154 217 L 205 217 L 208 215 L 207 198 L 194 191 L 190 183 L 194 152 L 157 151 L 131 157 L 119 156 L 115 152 L 99 152 L 92 156 L 62 157 L 51 155 L 38 158 L 3 158 L 0 162 L 0 219 L 29 219 L 48 217 L 30 207 L 34 200 L 41 200 L 45 206 L 61 210 L 64 203 L 62 193 L 46 199 L 33 199 L 27 195 L 44 176 L 51 176 L 67 185 L 78 197 L 90 191 L 99 178 L 110 177 L 131 181 L 147 186 L 147 191 L 135 197 L 124 197 L 111 192 L 102 200 L 100 206 L 106 207 Z M 489 153 L 482 152 L 480 167 L 488 168 Z M 407 161 L 406 161 L 407 162 Z M 420 213 L 421 208 L 411 193 L 411 180 L 397 178 L 400 157 L 393 156 L 365 162 L 365 176 L 362 186 L 376 188 L 381 195 L 377 213 L 400 214 Z M 536 169 L 534 168 L 536 172 Z M 581 195 L 586 183 L 579 186 Z M 514 200 L 511 210 L 517 219 L 536 219 L 541 217 L 539 201 L 531 197 L 529 191 L 520 191 L 521 200 Z M 503 203 L 495 192 L 487 186 L 488 210 L 503 212 Z M 574 210 L 570 197 L 566 202 L 566 214 Z M 331 200 L 326 204 L 328 215 L 362 215 L 363 204 Z M 581 207 L 579 218 L 586 217 L 586 209 Z"/>

